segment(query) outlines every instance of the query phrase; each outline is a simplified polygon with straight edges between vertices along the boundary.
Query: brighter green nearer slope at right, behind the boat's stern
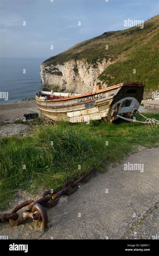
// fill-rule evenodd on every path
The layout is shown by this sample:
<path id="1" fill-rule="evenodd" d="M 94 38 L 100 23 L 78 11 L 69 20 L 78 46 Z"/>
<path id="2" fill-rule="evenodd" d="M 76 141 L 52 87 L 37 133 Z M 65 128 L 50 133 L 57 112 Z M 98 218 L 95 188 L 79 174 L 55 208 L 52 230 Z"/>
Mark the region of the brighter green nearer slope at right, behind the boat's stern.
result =
<path id="1" fill-rule="evenodd" d="M 159 34 L 153 35 L 150 41 L 142 42 L 129 51 L 123 59 L 111 64 L 99 76 L 101 82 L 108 86 L 119 81 L 139 81 L 146 84 L 145 91 L 159 88 L 158 44 Z M 133 73 L 136 69 L 136 74 Z"/>

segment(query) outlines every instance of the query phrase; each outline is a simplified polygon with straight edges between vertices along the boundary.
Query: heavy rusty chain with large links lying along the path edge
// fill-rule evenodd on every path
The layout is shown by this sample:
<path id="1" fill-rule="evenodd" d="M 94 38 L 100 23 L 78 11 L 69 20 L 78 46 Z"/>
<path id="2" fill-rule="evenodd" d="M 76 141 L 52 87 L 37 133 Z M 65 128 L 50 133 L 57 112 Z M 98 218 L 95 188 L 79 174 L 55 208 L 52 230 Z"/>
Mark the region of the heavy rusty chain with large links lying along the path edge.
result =
<path id="1" fill-rule="evenodd" d="M 91 167 L 88 173 L 81 176 L 79 173 L 79 178 L 77 180 L 70 179 L 63 183 L 62 190 L 47 190 L 42 194 L 42 197 L 36 201 L 30 199 L 20 203 L 19 205 L 15 206 L 11 213 L 4 213 L 0 214 L 0 221 L 8 221 L 12 226 L 18 226 L 29 218 L 32 218 L 33 221 L 38 222 L 41 220 L 41 227 L 45 228 L 48 223 L 48 216 L 47 211 L 44 207 L 53 207 L 58 203 L 60 196 L 62 195 L 72 195 L 78 189 L 78 184 L 84 180 L 87 174 L 90 174 L 94 171 L 95 168 Z M 69 186 L 68 186 L 69 185 Z M 25 210 L 22 214 L 22 217 L 19 218 L 19 214 L 17 213 L 18 210 L 22 209 L 23 207 L 28 206 L 28 210 Z"/>

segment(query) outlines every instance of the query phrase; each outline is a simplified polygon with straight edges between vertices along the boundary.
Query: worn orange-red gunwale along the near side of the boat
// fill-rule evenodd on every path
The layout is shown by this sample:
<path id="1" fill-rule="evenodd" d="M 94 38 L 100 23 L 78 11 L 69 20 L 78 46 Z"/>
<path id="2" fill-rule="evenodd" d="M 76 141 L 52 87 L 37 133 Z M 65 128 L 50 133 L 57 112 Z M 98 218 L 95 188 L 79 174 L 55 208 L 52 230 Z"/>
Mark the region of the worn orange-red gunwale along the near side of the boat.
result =
<path id="1" fill-rule="evenodd" d="M 70 100 L 70 99 L 74 99 L 74 98 L 81 98 L 81 97 L 89 96 L 89 95 L 92 95 L 92 94 L 97 94 L 97 93 L 109 91 L 111 89 L 116 89 L 116 88 L 119 88 L 119 87 L 122 87 L 122 86 L 144 87 L 145 84 L 144 83 L 137 83 L 137 82 L 123 82 L 123 83 L 120 83 L 120 84 L 117 84 L 117 85 L 112 85 L 112 86 L 104 88 L 104 89 L 96 90 L 96 91 L 93 91 L 93 92 L 89 92 L 89 93 L 86 93 L 86 94 L 81 94 L 81 95 L 77 95 L 77 96 L 73 96 L 73 97 L 67 97 L 67 98 L 62 98 L 62 99 L 47 99 L 47 100 L 36 98 L 36 100 L 41 101 L 41 102 L 66 101 L 66 100 Z"/>

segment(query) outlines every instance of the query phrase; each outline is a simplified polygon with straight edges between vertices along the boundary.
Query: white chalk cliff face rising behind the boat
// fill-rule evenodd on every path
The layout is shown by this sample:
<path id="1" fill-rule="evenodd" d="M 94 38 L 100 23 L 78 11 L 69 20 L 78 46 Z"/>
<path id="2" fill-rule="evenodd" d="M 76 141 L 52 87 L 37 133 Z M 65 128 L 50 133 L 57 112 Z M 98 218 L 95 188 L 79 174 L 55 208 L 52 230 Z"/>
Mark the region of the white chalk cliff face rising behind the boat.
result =
<path id="1" fill-rule="evenodd" d="M 41 64 L 41 80 L 43 90 L 65 91 L 74 93 L 87 93 L 96 90 L 100 82 L 98 76 L 111 64 L 111 59 L 105 58 L 95 64 L 85 59 L 71 59 L 63 64 Z M 102 88 L 107 87 L 103 84 Z"/>

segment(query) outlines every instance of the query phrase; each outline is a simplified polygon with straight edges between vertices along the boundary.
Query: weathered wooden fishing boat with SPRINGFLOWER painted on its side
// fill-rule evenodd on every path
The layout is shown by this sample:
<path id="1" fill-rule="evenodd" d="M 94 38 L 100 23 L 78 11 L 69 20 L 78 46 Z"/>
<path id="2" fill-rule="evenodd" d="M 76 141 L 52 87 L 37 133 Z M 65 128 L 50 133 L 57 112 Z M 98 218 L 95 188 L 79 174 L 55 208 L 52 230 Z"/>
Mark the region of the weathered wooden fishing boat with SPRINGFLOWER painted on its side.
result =
<path id="1" fill-rule="evenodd" d="M 41 115 L 55 121 L 89 122 L 104 119 L 112 122 L 116 114 L 132 118 L 139 108 L 144 92 L 143 83 L 123 82 L 87 93 L 40 91 L 36 93 Z"/>

